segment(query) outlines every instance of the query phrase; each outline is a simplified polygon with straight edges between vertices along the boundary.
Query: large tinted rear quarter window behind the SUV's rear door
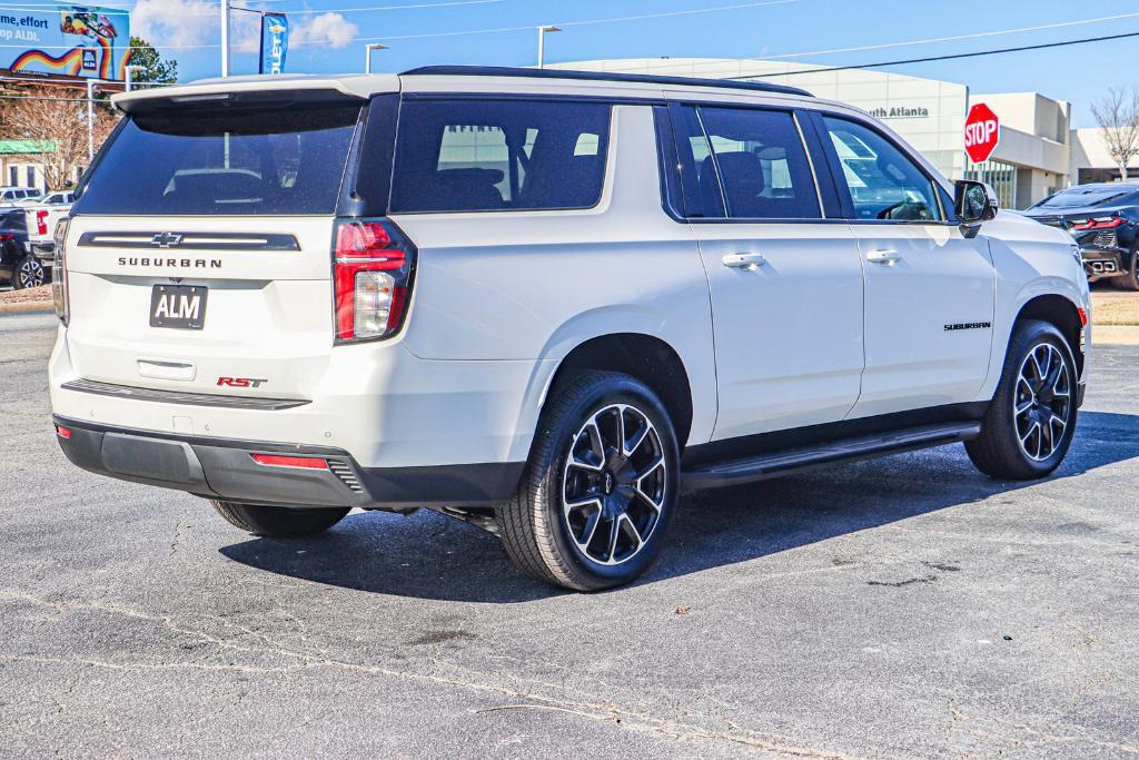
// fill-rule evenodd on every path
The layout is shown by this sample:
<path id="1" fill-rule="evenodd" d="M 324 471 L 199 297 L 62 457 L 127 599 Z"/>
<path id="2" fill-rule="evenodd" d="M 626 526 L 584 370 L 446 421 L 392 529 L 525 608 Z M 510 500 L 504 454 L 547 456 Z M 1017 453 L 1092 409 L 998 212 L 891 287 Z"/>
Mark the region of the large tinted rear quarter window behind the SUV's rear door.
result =
<path id="1" fill-rule="evenodd" d="M 392 213 L 591 207 L 608 133 L 603 104 L 404 103 Z"/>

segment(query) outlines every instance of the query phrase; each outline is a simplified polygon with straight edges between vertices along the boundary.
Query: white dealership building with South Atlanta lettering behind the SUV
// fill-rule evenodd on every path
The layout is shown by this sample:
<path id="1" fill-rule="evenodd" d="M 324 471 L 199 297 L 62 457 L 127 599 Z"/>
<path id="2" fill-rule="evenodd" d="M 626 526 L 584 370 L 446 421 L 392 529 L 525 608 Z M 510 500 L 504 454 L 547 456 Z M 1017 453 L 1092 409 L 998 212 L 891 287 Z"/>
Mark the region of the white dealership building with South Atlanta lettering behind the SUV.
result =
<path id="1" fill-rule="evenodd" d="M 1104 163 L 1098 130 L 1072 130 L 1071 104 L 1038 92 L 975 93 L 964 84 L 882 71 L 751 59 L 631 58 L 548 67 L 798 87 L 869 112 L 950 179 L 992 185 L 1007 209 L 1026 209 L 1070 185 L 1111 177 L 1112 164 L 1109 160 Z M 972 163 L 965 154 L 965 119 L 977 103 L 988 104 L 1001 122 L 1000 144 L 982 164 Z"/>

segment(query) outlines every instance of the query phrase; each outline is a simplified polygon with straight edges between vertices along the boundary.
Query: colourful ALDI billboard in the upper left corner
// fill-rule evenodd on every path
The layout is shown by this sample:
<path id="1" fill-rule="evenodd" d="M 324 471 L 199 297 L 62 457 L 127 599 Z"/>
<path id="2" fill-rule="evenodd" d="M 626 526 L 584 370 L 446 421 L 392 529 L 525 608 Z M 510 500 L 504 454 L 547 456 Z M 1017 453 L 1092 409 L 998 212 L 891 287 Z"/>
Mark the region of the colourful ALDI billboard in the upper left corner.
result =
<path id="1" fill-rule="evenodd" d="M 0 70 L 14 75 L 125 79 L 130 14 L 121 8 L 0 8 Z"/>

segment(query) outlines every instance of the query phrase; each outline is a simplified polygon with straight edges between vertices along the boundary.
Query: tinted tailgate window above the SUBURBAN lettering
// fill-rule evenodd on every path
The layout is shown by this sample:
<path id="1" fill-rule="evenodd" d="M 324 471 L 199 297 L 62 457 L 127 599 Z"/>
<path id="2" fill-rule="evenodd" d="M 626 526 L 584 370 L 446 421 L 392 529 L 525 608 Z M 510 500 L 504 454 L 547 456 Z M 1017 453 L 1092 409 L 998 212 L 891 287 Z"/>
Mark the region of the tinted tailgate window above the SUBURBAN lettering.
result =
<path id="1" fill-rule="evenodd" d="M 333 214 L 358 105 L 162 109 L 104 148 L 79 214 Z"/>

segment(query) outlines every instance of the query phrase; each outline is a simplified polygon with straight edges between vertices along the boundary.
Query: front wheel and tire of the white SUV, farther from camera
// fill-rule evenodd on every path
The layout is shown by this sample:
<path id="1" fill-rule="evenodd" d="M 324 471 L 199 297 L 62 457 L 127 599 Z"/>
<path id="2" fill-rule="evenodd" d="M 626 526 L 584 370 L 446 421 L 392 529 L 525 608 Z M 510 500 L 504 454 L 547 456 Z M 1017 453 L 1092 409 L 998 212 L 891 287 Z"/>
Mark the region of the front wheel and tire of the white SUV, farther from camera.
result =
<path id="1" fill-rule="evenodd" d="M 1000 480 L 1050 475 L 1075 435 L 1077 382 L 1072 349 L 1055 325 L 1017 322 L 981 436 L 965 444 L 977 469 Z"/>

